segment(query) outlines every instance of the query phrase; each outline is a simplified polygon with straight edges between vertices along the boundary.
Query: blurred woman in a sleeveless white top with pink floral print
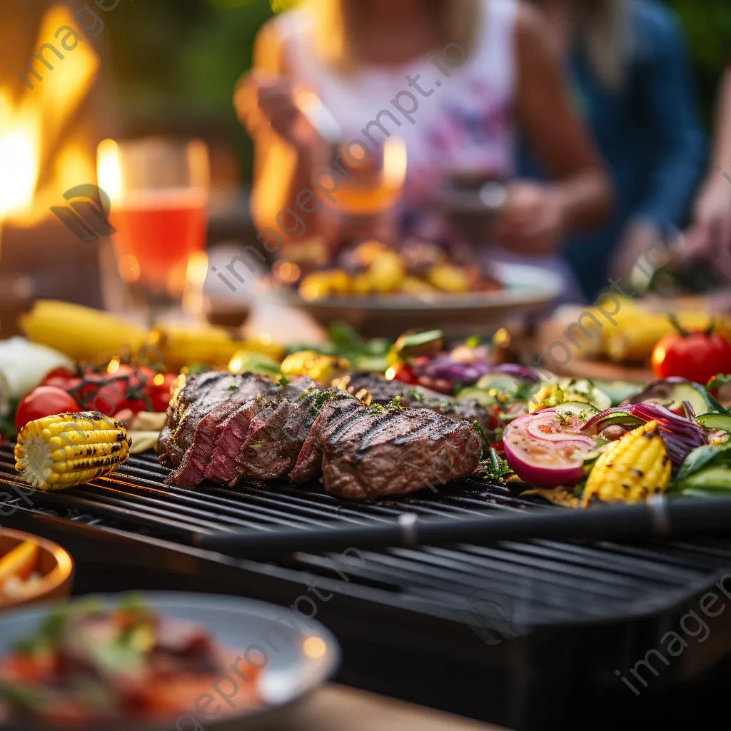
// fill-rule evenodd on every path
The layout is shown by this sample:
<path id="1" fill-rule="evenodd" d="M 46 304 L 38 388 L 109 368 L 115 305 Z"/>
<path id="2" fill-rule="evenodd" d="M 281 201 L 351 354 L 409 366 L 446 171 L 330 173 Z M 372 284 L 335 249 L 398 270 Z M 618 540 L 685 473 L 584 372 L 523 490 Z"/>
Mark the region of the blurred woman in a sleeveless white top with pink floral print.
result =
<path id="1" fill-rule="evenodd" d="M 295 104 L 300 86 L 322 99 L 345 140 L 375 149 L 385 137 L 404 139 L 407 233 L 438 234 L 429 212 L 448 171 L 515 178 L 517 124 L 553 181 L 510 183 L 493 232 L 504 256 L 560 269 L 556 251 L 567 232 L 608 216 L 599 156 L 572 110 L 542 20 L 518 0 L 306 1 L 262 27 L 235 107 L 255 143 L 254 219 L 276 230 L 281 211 L 296 211 L 303 225 L 294 238 L 320 225 L 316 212 L 297 206 L 300 192 L 317 190 L 316 138 Z M 406 92 L 419 106 L 411 118 L 393 103 L 414 106 Z"/>

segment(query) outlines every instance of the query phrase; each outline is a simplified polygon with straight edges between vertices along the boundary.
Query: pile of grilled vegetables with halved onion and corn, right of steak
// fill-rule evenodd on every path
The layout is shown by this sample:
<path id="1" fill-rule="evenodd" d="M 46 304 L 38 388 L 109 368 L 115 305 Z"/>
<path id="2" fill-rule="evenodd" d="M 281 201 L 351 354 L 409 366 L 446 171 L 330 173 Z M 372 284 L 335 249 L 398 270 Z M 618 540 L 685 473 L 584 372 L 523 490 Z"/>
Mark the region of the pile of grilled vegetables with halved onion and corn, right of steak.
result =
<path id="1" fill-rule="evenodd" d="M 510 482 L 572 507 L 731 490 L 731 412 L 711 393 L 726 381 L 661 379 L 603 410 L 606 395 L 591 382 L 573 401 L 544 385 L 526 399 L 529 413 L 505 417 Z"/>

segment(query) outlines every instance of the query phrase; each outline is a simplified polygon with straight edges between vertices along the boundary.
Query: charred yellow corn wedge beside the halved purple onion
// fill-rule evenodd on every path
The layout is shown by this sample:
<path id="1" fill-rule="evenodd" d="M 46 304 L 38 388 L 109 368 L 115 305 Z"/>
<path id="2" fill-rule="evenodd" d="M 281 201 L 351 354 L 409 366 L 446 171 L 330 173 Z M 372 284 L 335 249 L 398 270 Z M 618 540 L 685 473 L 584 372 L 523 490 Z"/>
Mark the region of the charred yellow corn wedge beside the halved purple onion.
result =
<path id="1" fill-rule="evenodd" d="M 584 488 L 582 507 L 592 498 L 603 502 L 642 502 L 662 493 L 673 469 L 656 421 L 626 433 L 594 465 Z"/>

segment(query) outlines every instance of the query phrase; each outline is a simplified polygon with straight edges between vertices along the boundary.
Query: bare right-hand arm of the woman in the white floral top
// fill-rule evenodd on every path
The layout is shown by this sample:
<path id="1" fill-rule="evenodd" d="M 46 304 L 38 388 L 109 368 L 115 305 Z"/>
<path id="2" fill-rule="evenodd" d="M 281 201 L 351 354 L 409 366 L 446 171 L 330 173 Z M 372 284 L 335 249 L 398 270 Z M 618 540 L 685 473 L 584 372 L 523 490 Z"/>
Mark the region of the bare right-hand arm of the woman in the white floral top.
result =
<path id="1" fill-rule="evenodd" d="M 531 150 L 556 183 L 569 233 L 595 228 L 612 207 L 610 183 L 572 110 L 561 67 L 539 15 L 518 13 L 518 115 Z"/>

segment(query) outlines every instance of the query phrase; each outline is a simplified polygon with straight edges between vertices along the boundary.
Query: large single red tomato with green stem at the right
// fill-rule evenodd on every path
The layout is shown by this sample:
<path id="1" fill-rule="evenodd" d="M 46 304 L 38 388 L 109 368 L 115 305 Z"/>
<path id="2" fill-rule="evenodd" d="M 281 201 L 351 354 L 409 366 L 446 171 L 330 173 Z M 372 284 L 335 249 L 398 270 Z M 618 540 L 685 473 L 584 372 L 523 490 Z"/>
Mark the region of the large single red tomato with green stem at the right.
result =
<path id="1" fill-rule="evenodd" d="M 677 333 L 660 339 L 652 352 L 652 372 L 658 378 L 679 376 L 706 384 L 716 374 L 731 373 L 731 344 L 713 328 Z"/>

